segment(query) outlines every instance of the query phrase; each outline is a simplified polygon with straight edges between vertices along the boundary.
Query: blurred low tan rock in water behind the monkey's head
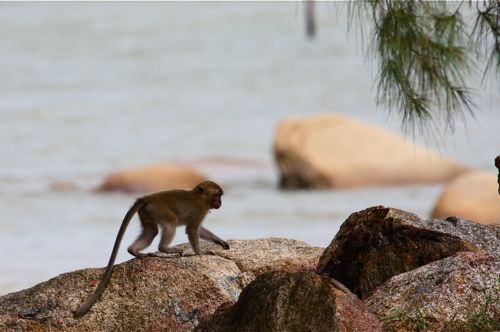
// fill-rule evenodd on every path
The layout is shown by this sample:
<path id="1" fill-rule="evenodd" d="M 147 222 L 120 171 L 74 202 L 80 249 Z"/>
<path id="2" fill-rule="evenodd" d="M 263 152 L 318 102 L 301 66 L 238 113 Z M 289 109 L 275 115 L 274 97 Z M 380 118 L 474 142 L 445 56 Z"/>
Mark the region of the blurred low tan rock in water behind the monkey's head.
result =
<path id="1" fill-rule="evenodd" d="M 177 164 L 155 164 L 117 171 L 108 175 L 98 191 L 150 193 L 162 190 L 189 190 L 205 177 L 193 169 Z"/>

